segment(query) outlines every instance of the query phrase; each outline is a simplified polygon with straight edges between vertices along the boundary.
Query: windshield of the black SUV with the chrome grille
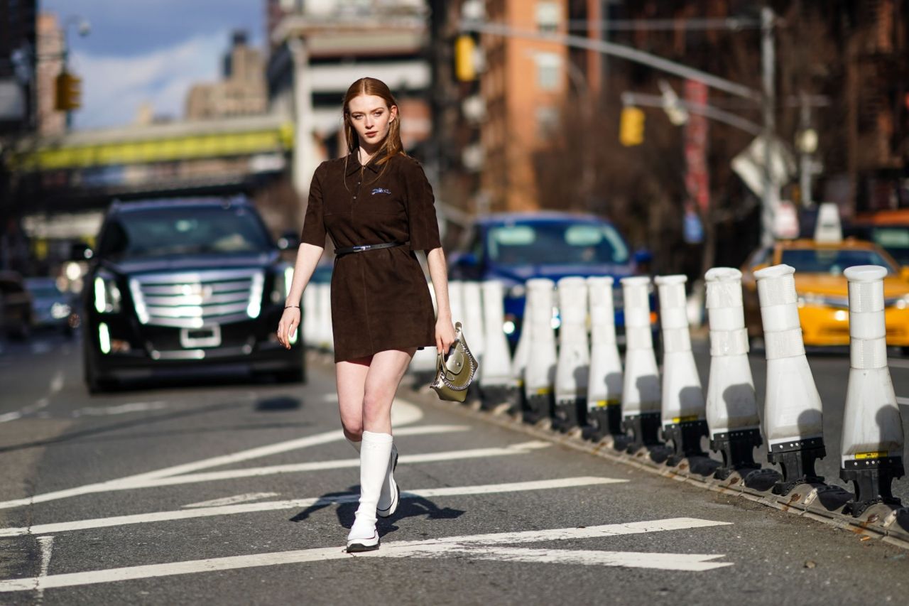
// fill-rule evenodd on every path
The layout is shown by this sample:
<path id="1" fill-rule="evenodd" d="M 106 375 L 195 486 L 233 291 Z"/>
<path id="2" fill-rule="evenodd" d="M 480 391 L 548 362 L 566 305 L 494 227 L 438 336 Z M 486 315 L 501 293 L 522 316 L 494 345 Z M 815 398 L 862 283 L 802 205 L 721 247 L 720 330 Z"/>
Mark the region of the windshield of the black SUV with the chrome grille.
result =
<path id="1" fill-rule="evenodd" d="M 119 213 L 101 238 L 102 256 L 158 257 L 265 252 L 265 228 L 244 207 L 174 207 Z"/>

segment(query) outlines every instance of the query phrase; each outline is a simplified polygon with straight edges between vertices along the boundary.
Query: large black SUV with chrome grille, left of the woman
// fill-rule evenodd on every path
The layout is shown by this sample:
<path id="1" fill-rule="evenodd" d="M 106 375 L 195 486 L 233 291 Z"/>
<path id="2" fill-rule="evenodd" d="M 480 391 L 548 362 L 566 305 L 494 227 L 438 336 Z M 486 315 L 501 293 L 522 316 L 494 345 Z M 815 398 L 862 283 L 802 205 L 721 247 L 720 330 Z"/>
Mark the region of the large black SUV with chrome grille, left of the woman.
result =
<path id="1" fill-rule="evenodd" d="M 293 268 L 245 198 L 115 202 L 85 257 L 89 391 L 209 370 L 305 380 L 300 332 L 290 351 L 275 335 Z"/>

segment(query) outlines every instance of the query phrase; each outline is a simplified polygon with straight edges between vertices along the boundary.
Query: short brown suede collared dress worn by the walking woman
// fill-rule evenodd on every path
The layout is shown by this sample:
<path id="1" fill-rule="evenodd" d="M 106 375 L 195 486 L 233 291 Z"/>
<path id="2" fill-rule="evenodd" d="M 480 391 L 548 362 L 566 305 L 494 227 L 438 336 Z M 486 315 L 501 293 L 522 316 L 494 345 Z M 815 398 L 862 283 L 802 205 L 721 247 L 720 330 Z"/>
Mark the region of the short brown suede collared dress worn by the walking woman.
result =
<path id="1" fill-rule="evenodd" d="M 415 159 L 393 156 L 387 167 L 376 159 L 365 167 L 355 154 L 327 160 L 309 190 L 301 241 L 324 247 L 327 234 L 335 248 L 410 242 L 335 258 L 335 362 L 435 346 L 433 301 L 414 253 L 441 247 L 433 189 Z"/>

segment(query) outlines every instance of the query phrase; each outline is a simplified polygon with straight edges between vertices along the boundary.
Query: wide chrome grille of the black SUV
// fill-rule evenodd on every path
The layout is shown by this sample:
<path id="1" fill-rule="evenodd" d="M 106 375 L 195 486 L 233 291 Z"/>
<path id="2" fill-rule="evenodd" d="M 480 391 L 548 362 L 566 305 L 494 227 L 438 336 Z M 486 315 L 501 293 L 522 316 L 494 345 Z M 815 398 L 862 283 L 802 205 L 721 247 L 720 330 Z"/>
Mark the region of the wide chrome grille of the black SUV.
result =
<path id="1" fill-rule="evenodd" d="M 143 324 L 199 328 L 257 318 L 265 276 L 260 269 L 217 269 L 130 278 Z"/>

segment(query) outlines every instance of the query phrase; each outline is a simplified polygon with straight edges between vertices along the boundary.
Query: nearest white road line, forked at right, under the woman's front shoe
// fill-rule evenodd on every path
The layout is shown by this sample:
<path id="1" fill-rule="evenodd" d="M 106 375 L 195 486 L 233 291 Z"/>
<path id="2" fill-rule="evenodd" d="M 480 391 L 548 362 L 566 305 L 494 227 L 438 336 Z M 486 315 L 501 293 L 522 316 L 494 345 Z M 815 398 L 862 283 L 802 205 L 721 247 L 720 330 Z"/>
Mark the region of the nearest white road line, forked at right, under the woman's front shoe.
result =
<path id="1" fill-rule="evenodd" d="M 714 520 L 698 520 L 696 518 L 673 518 L 669 520 L 642 521 L 628 524 L 604 524 L 602 526 L 588 526 L 586 528 L 564 528 L 554 530 L 530 530 L 524 532 L 500 532 L 495 534 L 480 534 L 464 537 L 442 537 L 430 540 L 409 540 L 383 543 L 382 548 L 368 551 L 355 557 L 367 558 L 425 558 L 427 555 L 436 555 L 445 550 L 456 552 L 458 555 L 470 556 L 476 553 L 481 559 L 489 559 L 494 551 L 488 546 L 511 545 L 516 542 L 536 542 L 544 540 L 576 540 L 595 539 L 602 537 L 640 534 L 644 532 L 660 532 L 664 530 L 686 530 L 693 528 L 707 528 L 712 526 L 725 526 L 730 522 Z M 476 546 L 469 549 L 470 545 Z M 515 561 L 561 561 L 564 563 L 594 563 L 604 566 L 629 566 L 646 568 L 664 568 L 664 570 L 704 571 L 720 566 L 730 566 L 730 562 L 705 562 L 722 558 L 723 555 L 704 554 L 662 554 L 662 553 L 623 553 L 621 551 L 604 551 L 603 556 L 589 556 L 581 558 L 576 551 L 566 551 L 568 556 L 559 558 L 553 555 L 554 550 L 497 550 L 499 560 Z M 502 554 L 508 557 L 502 557 Z M 593 553 L 596 553 L 595 551 Z M 534 559 L 535 557 L 535 559 Z M 164 564 L 150 564 L 127 568 L 114 568 L 105 571 L 70 572 L 55 574 L 46 577 L 43 585 L 45 588 L 74 587 L 77 585 L 90 585 L 95 583 L 108 583 L 115 581 L 133 581 L 136 579 L 152 579 L 156 577 L 174 576 L 177 574 L 195 574 L 198 572 L 231 571 L 244 568 L 257 568 L 263 566 L 279 566 L 283 564 L 298 564 L 311 561 L 352 560 L 354 556 L 345 553 L 343 547 L 328 547 L 311 550 L 275 551 L 271 553 L 255 553 L 226 558 L 212 558 L 209 560 L 175 561 Z M 653 562 L 653 566 L 647 566 Z M 688 564 L 685 566 L 685 564 Z M 33 579 L 10 579 L 0 581 L 0 591 L 27 591 L 34 589 Z"/>

